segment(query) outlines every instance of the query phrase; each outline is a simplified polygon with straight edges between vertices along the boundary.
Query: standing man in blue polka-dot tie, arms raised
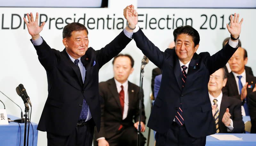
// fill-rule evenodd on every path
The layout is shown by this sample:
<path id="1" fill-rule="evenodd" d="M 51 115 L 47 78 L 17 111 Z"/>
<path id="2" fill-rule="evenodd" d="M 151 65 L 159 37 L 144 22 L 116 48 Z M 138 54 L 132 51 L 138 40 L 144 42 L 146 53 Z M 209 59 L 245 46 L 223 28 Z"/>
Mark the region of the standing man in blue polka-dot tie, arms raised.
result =
<path id="1" fill-rule="evenodd" d="M 31 16 L 31 17 L 30 17 Z M 63 28 L 63 51 L 51 49 L 39 35 L 38 13 L 23 18 L 48 81 L 48 97 L 37 129 L 47 132 L 49 146 L 91 146 L 100 131 L 99 69 L 131 41 L 122 31 L 108 45 L 88 47 L 88 30 L 71 23 Z"/>

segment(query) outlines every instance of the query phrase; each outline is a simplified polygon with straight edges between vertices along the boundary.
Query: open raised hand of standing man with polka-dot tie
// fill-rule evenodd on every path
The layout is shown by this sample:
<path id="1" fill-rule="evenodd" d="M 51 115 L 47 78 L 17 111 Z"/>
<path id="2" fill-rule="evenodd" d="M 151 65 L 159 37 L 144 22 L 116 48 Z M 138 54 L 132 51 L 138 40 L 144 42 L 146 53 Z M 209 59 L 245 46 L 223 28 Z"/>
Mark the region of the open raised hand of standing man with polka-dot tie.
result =
<path id="1" fill-rule="evenodd" d="M 25 17 L 23 17 L 23 20 L 27 25 L 28 33 L 31 35 L 33 40 L 36 40 L 37 38 L 39 38 L 39 33 L 43 30 L 45 22 L 43 22 L 41 26 L 38 25 L 38 13 L 36 13 L 35 21 L 32 13 L 30 13 L 30 16 L 27 13 L 27 17 L 28 21 L 26 20 Z"/>

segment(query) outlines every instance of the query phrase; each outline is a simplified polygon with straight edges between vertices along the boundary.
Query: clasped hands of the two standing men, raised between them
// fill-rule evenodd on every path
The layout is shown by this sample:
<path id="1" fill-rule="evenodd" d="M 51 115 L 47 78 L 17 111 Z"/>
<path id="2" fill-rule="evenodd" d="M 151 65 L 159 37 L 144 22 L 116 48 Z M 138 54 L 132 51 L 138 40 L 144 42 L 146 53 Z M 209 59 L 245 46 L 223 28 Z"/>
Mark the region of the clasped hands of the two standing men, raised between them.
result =
<path id="1" fill-rule="evenodd" d="M 138 23 L 138 13 L 134 10 L 133 5 L 129 5 L 124 8 L 124 18 L 128 21 L 131 28 L 134 28 Z"/>

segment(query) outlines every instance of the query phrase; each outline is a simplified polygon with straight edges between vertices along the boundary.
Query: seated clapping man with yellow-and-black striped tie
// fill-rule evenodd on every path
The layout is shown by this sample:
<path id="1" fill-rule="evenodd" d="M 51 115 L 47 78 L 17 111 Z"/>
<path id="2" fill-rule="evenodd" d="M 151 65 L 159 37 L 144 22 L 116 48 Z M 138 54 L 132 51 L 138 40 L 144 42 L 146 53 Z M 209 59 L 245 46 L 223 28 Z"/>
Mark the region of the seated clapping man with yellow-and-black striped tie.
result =
<path id="1" fill-rule="evenodd" d="M 226 71 L 224 68 L 220 68 L 210 75 L 208 83 L 216 133 L 243 133 L 242 103 L 238 99 L 222 94 L 221 89 L 226 85 L 226 82 Z"/>

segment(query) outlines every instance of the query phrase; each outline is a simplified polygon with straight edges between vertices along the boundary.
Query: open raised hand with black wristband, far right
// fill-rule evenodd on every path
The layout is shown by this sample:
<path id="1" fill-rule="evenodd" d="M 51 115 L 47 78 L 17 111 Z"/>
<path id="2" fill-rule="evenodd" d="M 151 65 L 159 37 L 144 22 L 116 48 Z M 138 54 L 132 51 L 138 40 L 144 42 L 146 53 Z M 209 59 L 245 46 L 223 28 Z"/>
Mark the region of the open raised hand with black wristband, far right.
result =
<path id="1" fill-rule="evenodd" d="M 227 28 L 233 38 L 239 37 L 243 20 L 244 18 L 242 18 L 241 21 L 239 22 L 239 14 L 237 14 L 236 16 L 236 13 L 235 13 L 234 19 L 233 19 L 233 15 L 230 15 L 230 26 L 227 24 Z"/>

